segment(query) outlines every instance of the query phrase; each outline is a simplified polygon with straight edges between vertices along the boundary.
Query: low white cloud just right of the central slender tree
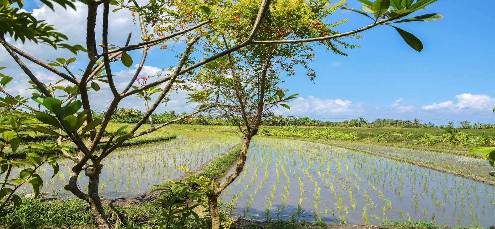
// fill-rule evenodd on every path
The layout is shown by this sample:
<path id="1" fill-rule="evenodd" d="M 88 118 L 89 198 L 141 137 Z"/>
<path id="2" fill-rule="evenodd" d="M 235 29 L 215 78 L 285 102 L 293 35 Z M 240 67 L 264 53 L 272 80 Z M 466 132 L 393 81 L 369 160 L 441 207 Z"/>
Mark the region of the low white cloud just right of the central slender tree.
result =
<path id="1" fill-rule="evenodd" d="M 349 114 L 356 105 L 350 100 L 342 99 L 321 99 L 314 96 L 306 98 L 298 97 L 287 103 L 291 109 L 283 107 L 277 108 L 274 113 L 282 115 L 329 115 L 329 114 Z"/>

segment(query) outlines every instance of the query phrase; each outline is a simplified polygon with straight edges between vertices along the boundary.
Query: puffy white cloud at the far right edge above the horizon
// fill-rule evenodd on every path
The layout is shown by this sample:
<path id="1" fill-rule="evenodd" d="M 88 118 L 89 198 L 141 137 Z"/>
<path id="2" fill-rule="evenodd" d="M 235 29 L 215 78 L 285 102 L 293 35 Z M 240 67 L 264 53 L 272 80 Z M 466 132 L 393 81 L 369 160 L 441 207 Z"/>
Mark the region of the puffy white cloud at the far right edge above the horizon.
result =
<path id="1" fill-rule="evenodd" d="M 457 103 L 450 100 L 441 103 L 422 106 L 423 110 L 436 110 L 443 112 L 484 112 L 491 111 L 495 106 L 495 98 L 487 94 L 463 93 L 455 95 Z"/>

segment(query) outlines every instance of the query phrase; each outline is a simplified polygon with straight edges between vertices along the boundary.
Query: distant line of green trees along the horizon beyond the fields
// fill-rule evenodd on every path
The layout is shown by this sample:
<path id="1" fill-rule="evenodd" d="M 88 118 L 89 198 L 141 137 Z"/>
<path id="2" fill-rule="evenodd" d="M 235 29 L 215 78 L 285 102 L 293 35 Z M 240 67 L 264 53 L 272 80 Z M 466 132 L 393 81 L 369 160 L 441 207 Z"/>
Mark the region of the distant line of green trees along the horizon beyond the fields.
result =
<path id="1" fill-rule="evenodd" d="M 102 118 L 104 113 L 93 111 L 93 117 Z M 121 107 L 117 109 L 111 116 L 113 122 L 120 123 L 137 123 L 145 112 L 136 109 L 128 109 Z M 177 118 L 182 117 L 182 114 L 175 111 L 164 111 L 160 114 L 151 114 L 153 123 L 161 124 Z M 404 127 L 404 128 L 463 128 L 463 129 L 495 129 L 494 124 L 477 123 L 472 124 L 465 120 L 454 125 L 453 122 L 447 122 L 447 125 L 436 126 L 432 123 L 420 123 L 420 119 L 414 120 L 401 120 L 401 119 L 376 119 L 373 122 L 368 121 L 365 118 L 357 118 L 346 120 L 344 122 L 330 122 L 310 119 L 307 117 L 297 118 L 294 116 L 282 117 L 274 116 L 269 120 L 263 122 L 264 126 L 316 126 L 316 127 Z M 146 120 L 146 123 L 149 123 Z M 234 126 L 235 122 L 231 118 L 225 118 L 218 115 L 212 115 L 208 113 L 197 114 L 191 118 L 183 119 L 177 124 L 190 124 L 190 125 L 217 125 L 217 126 Z"/>

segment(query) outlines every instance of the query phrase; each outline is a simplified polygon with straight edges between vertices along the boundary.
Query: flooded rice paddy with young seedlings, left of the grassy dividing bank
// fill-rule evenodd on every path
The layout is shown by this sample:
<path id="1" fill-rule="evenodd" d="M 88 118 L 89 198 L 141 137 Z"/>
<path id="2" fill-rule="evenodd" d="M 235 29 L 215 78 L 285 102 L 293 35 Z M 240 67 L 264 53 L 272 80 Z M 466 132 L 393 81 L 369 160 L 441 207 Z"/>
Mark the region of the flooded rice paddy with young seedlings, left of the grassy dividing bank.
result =
<path id="1" fill-rule="evenodd" d="M 100 196 L 113 199 L 142 194 L 148 185 L 173 180 L 184 174 L 177 166 L 194 170 L 239 142 L 238 137 L 207 133 L 179 134 L 175 139 L 118 148 L 103 161 L 100 175 Z M 71 160 L 58 161 L 59 173 L 50 179 L 53 169 L 46 165 L 40 171 L 45 181 L 42 191 L 57 197 L 75 198 L 63 188 L 69 180 Z M 18 174 L 18 171 L 14 171 Z M 81 173 L 78 185 L 87 191 L 88 178 Z M 19 193 L 32 193 L 31 185 L 23 185 Z"/>

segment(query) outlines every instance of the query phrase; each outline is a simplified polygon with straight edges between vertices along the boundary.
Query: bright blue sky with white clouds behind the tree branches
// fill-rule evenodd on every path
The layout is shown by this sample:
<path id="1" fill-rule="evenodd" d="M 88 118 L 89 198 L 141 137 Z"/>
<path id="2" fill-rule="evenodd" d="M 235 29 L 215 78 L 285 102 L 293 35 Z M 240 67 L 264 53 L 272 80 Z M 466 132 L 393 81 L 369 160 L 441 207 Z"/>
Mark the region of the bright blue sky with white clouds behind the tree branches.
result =
<path id="1" fill-rule="evenodd" d="M 28 0 L 25 3 L 26 10 L 37 11 L 39 17 L 47 19 L 50 24 L 55 24 L 57 29 L 69 35 L 69 41 L 78 43 L 78 39 L 84 37 L 81 36 L 83 29 L 65 25 L 67 19 L 74 23 L 82 22 L 86 17 L 84 9 L 78 8 L 75 12 L 56 9 L 52 12 L 39 2 Z M 347 3 L 350 7 L 360 7 L 357 0 L 347 0 Z M 348 38 L 347 42 L 361 46 L 347 49 L 349 56 L 325 53 L 323 48 L 317 47 L 316 59 L 311 65 L 317 73 L 315 82 L 309 82 L 305 71 L 301 69 L 295 76 L 286 77 L 282 88 L 300 93 L 300 98 L 289 103 L 291 110 L 281 108 L 275 113 L 325 121 L 366 117 L 370 120 L 420 118 L 439 125 L 444 120 L 438 119 L 495 123 L 492 112 L 495 106 L 495 45 L 492 42 L 495 32 L 489 29 L 493 28 L 495 19 L 493 8 L 495 1 L 483 1 L 482 7 L 467 7 L 465 1 L 438 0 L 427 6 L 426 10 L 419 10 L 413 15 L 441 13 L 445 19 L 396 24 L 423 42 L 421 53 L 407 46 L 389 26 L 364 31 L 361 33 L 363 39 Z M 115 43 L 122 43 L 129 31 L 139 34 L 137 27 L 128 26 L 132 25 L 132 17 L 128 11 L 120 10 L 112 16 L 118 20 L 111 33 L 110 43 L 114 44 L 112 39 Z M 369 18 L 348 10 L 338 10 L 329 20 L 344 18 L 349 19 L 349 22 L 336 27 L 340 32 L 372 23 Z M 134 36 L 133 42 L 138 42 L 137 36 Z M 34 47 L 32 44 L 13 43 L 28 52 Z M 54 59 L 52 53 L 33 51 L 45 57 L 40 59 Z M 8 66 L 7 73 L 21 73 L 11 60 L 1 57 L 3 54 L 6 53 L 1 50 L 0 63 Z M 130 54 L 135 60 L 140 58 L 139 52 Z M 56 57 L 65 58 L 73 56 L 63 50 L 58 50 L 57 55 Z M 173 60 L 167 56 L 172 54 L 164 55 L 159 49 L 151 49 L 145 63 L 148 71 L 144 74 L 154 74 L 153 71 L 167 68 Z M 84 55 L 78 55 L 79 60 L 84 60 L 83 58 Z M 82 63 L 83 61 L 76 61 L 72 68 L 77 70 L 82 67 Z M 124 82 L 132 74 L 132 69 L 133 67 L 130 70 L 117 67 L 114 72 Z M 39 74 L 52 79 L 42 69 L 39 69 Z M 20 84 L 12 90 L 23 93 Z M 102 93 L 93 96 L 104 98 Z M 167 107 L 159 109 L 180 112 L 190 110 L 184 105 L 184 96 L 184 93 L 178 92 L 171 97 Z M 96 108 L 102 109 L 105 106 L 104 101 L 102 99 Z M 124 105 L 143 109 L 135 101 Z"/>

